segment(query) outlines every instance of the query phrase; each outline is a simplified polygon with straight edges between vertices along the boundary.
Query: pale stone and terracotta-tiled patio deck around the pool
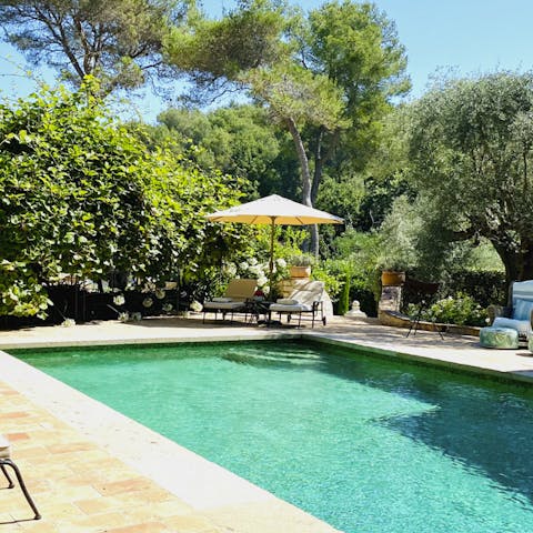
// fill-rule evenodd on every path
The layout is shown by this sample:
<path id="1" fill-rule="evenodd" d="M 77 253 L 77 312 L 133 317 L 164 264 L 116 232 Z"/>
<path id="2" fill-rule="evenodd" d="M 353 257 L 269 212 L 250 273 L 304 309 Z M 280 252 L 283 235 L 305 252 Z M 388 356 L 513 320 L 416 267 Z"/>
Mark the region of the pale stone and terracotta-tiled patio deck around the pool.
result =
<path id="1" fill-rule="evenodd" d="M 158 319 L 0 332 L 0 349 L 316 338 L 533 384 L 525 350 L 483 350 L 471 336 L 335 319 L 326 328 L 264 329 Z M 328 524 L 0 352 L 0 431 L 43 515 L 18 487 L 0 490 L 0 532 L 326 533 Z M 3 486 L 3 485 L 2 485 Z"/>

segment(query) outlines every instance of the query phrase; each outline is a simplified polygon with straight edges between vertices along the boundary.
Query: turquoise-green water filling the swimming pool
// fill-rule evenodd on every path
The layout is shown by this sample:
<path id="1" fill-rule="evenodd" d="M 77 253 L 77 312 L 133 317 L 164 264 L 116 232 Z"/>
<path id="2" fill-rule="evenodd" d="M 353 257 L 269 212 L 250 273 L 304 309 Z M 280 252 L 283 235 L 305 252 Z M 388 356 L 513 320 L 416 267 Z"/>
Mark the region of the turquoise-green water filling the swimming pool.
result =
<path id="1" fill-rule="evenodd" d="M 13 354 L 342 531 L 533 531 L 523 388 L 320 344 Z"/>

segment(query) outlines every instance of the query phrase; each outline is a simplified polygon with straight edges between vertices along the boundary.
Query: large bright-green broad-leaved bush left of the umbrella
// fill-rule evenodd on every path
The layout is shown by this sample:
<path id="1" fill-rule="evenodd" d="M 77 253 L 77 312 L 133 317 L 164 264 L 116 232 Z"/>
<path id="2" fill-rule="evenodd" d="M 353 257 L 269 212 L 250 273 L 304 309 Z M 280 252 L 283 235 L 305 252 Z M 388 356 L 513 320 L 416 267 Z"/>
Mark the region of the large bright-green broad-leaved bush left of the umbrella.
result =
<path id="1" fill-rule="evenodd" d="M 234 184 L 149 152 L 94 92 L 0 105 L 0 314 L 42 314 L 41 285 L 63 279 L 198 278 L 247 241 L 245 229 L 204 219 L 237 201 Z"/>

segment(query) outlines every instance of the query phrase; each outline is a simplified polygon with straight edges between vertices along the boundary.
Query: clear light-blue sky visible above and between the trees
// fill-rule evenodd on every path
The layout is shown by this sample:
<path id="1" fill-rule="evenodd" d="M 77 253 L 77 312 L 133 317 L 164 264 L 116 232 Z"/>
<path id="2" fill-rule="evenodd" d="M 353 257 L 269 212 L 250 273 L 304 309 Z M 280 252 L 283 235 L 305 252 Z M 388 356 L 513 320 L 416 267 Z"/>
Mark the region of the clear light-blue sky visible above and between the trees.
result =
<path id="1" fill-rule="evenodd" d="M 303 9 L 314 9 L 323 0 L 300 0 Z M 531 0 L 376 0 L 396 23 L 400 42 L 406 48 L 408 72 L 420 97 L 432 76 L 453 69 L 456 76 L 496 69 L 533 69 L 533 1 Z M 231 0 L 204 0 L 207 12 L 219 16 Z M 34 83 L 23 76 L 24 61 L 11 47 L 0 49 L 0 90 L 8 98 L 28 94 Z M 22 70 L 17 69 L 21 67 Z M 53 72 L 37 69 L 53 83 Z M 22 76 L 21 76 L 22 73 Z M 153 121 L 167 104 L 150 95 L 134 100 L 139 115 Z"/>

